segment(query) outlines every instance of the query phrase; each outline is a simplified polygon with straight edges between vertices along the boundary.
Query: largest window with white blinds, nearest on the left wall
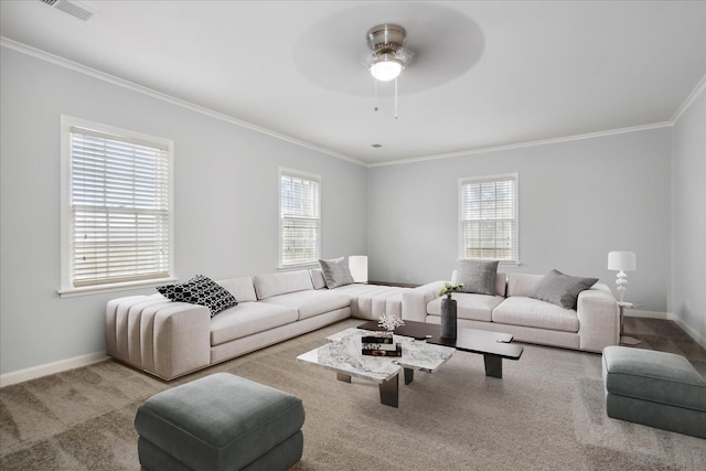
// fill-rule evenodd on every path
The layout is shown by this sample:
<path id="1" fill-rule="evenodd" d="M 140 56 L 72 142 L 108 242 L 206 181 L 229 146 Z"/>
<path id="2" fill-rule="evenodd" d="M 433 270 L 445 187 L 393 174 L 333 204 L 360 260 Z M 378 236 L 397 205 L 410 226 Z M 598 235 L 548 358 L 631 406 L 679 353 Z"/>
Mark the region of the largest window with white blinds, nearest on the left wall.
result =
<path id="1" fill-rule="evenodd" d="M 172 277 L 172 142 L 62 117 L 60 293 Z"/>

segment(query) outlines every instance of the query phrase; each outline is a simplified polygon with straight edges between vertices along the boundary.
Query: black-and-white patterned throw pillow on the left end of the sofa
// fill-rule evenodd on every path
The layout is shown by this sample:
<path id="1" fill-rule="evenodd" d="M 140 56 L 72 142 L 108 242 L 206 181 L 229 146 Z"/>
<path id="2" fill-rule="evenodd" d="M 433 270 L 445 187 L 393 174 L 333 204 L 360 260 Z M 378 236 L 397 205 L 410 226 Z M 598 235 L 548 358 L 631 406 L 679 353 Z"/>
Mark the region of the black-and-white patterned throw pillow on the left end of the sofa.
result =
<path id="1" fill-rule="evenodd" d="M 196 275 L 184 283 L 158 286 L 157 290 L 172 301 L 205 306 L 212 318 L 224 309 L 238 304 L 227 289 L 203 275 Z"/>

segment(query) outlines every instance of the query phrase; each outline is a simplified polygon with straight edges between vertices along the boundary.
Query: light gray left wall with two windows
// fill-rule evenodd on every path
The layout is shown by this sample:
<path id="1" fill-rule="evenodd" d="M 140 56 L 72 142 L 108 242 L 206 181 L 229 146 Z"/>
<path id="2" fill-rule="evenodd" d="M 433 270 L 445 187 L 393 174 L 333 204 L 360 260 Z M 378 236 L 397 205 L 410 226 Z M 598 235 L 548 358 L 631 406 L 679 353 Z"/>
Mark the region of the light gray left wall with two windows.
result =
<path id="1" fill-rule="evenodd" d="M 182 280 L 276 270 L 279 165 L 321 175 L 323 257 L 366 250 L 364 167 L 13 50 L 0 74 L 0 374 L 104 350 L 106 301 L 154 292 L 56 295 L 62 114 L 174 141 Z"/>

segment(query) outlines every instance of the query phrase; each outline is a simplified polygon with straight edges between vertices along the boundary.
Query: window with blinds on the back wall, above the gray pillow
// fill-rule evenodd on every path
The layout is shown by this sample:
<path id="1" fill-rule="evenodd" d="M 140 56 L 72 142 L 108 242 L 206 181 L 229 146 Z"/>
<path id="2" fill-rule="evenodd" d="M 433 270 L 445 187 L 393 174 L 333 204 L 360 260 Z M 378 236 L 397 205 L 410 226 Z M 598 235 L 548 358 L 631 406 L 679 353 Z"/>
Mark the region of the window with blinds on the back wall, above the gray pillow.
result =
<path id="1" fill-rule="evenodd" d="M 517 174 L 461 180 L 461 258 L 518 263 Z"/>

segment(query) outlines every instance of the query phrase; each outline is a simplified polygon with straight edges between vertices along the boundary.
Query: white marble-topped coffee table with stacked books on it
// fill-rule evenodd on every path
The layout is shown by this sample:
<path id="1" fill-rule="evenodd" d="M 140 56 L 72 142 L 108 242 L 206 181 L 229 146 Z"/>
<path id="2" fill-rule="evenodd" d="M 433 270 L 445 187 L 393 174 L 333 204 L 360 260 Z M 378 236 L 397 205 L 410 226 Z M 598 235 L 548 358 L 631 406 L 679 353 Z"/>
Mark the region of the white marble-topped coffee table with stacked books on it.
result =
<path id="1" fill-rule="evenodd" d="M 409 384 L 415 370 L 432 373 L 454 352 L 452 347 L 394 335 L 394 342 L 402 343 L 402 356 L 366 356 L 361 353 L 364 333 L 370 332 L 351 328 L 330 335 L 325 345 L 297 356 L 297 361 L 334 371 L 336 378 L 345 383 L 351 383 L 352 376 L 377 383 L 379 402 L 398 407 L 400 370 L 405 384 Z"/>

